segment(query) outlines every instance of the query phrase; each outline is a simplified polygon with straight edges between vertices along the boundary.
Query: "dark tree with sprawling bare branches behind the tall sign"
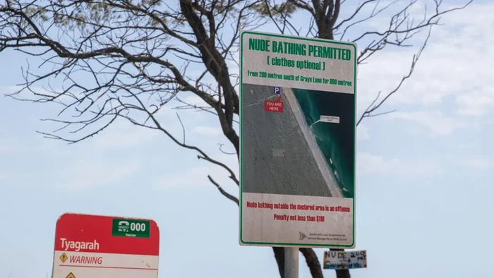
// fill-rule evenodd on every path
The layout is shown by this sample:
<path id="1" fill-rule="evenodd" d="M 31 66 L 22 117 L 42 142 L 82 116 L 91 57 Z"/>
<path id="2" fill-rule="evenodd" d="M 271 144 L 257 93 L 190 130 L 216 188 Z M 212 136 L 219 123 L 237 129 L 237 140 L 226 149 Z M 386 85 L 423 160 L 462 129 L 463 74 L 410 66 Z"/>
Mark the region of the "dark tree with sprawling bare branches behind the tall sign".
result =
<path id="1" fill-rule="evenodd" d="M 238 64 L 239 32 L 272 24 L 281 33 L 357 42 L 359 64 L 387 47 L 406 47 L 421 30 L 438 25 L 440 16 L 464 7 L 442 10 L 435 0 L 433 13 L 416 20 L 409 9 L 416 0 L 402 6 L 382 31 L 349 37 L 349 30 L 379 16 L 395 5 L 367 0 L 350 6 L 345 0 L 5 0 L 0 4 L 0 52 L 15 49 L 43 62 L 23 68 L 25 82 L 9 97 L 31 102 L 61 105 L 59 117 L 46 119 L 61 125 L 58 130 L 40 132 L 47 138 L 78 143 L 104 131 L 116 119 L 159 131 L 176 145 L 193 150 L 198 159 L 215 164 L 229 173 L 231 183 L 239 179 L 231 167 L 212 158 L 206 150 L 171 134 L 157 118 L 164 105 L 193 109 L 215 116 L 239 158 L 239 135 L 235 131 L 240 107 L 236 87 L 239 76 L 229 70 Z M 470 2 L 469 2 L 470 3 Z M 466 5 L 468 5 L 467 3 Z M 373 8 L 368 9 L 367 7 Z M 341 11 L 353 11 L 340 18 Z M 294 17 L 303 26 L 297 26 Z M 300 25 L 300 23 L 299 23 Z M 301 30 L 304 31 L 302 34 Z M 430 33 L 429 33 L 430 34 Z M 358 123 L 380 111 L 381 105 L 411 76 L 426 47 L 428 36 L 412 57 L 410 71 L 394 90 L 378 93 L 361 114 Z M 365 44 L 363 42 L 366 42 Z M 42 71 L 41 67 L 48 68 Z M 84 78 L 80 78 L 84 76 Z M 54 89 L 56 80 L 63 85 Z M 38 85 L 45 90 L 33 90 Z M 27 93 L 24 97 L 22 93 Z M 183 99 L 193 94 L 205 102 L 198 106 Z M 71 115 L 66 119 L 64 115 Z M 180 121 L 180 118 L 178 119 Z M 64 133 L 64 131 L 68 131 Z M 220 146 L 222 147 L 222 146 Z M 220 148 L 220 150 L 222 150 Z M 212 178 L 207 179 L 226 198 L 239 205 L 234 194 Z M 273 248 L 283 277 L 284 250 Z M 311 248 L 301 248 L 313 277 L 323 277 Z M 349 277 L 337 271 L 337 277 Z"/>

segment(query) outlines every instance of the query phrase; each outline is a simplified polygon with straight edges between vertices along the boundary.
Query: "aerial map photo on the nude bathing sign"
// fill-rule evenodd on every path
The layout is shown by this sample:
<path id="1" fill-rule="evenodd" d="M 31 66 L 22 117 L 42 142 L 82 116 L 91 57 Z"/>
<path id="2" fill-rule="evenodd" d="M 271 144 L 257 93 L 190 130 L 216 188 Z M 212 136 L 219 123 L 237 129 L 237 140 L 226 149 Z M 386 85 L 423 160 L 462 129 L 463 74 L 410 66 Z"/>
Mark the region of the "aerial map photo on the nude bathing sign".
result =
<path id="1" fill-rule="evenodd" d="M 353 94 L 242 89 L 243 192 L 354 198 Z"/>

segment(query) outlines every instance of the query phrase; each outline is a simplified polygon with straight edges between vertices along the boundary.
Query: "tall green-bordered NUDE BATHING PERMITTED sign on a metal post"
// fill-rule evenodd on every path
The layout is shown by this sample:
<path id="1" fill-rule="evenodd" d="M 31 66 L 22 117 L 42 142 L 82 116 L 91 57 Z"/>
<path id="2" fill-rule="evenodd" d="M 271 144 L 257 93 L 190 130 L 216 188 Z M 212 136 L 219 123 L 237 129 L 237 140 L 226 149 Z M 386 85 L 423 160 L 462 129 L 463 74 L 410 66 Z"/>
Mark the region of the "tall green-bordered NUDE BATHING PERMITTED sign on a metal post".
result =
<path id="1" fill-rule="evenodd" d="M 240 244 L 354 248 L 356 44 L 240 44 Z"/>

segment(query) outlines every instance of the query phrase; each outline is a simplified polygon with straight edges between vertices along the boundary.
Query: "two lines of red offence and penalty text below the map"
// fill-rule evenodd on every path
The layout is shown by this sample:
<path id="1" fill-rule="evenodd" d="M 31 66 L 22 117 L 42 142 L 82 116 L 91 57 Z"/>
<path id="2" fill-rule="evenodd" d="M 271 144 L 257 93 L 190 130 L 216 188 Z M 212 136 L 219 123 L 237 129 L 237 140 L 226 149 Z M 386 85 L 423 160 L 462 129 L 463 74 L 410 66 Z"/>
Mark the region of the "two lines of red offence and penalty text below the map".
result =
<path id="1" fill-rule="evenodd" d="M 350 207 L 327 206 L 327 205 L 305 205 L 305 204 L 287 204 L 287 203 L 266 203 L 266 202 L 247 202 L 247 208 L 265 209 L 265 210 L 305 210 L 313 212 L 350 212 Z M 303 221 L 303 222 L 325 222 L 324 215 L 287 215 L 273 214 L 274 220 L 282 221 Z"/>

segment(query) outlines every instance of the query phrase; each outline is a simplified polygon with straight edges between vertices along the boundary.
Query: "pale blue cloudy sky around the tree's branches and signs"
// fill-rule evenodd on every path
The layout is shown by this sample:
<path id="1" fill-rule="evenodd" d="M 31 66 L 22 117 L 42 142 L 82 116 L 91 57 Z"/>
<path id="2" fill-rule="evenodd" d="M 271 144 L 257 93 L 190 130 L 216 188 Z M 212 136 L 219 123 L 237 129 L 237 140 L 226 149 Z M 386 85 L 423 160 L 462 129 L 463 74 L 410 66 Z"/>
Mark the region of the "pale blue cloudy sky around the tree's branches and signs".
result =
<path id="1" fill-rule="evenodd" d="M 368 268 L 352 277 L 494 277 L 486 267 L 494 246 L 493 14 L 494 2 L 476 1 L 442 18 L 413 77 L 383 110 L 396 111 L 359 125 L 356 250 L 367 250 Z M 386 20 L 360 28 L 382 29 Z M 416 50 L 390 48 L 359 68 L 359 111 L 397 84 Z M 2 95 L 22 81 L 25 59 L 0 53 Z M 155 219 L 160 278 L 277 277 L 271 248 L 239 246 L 238 208 L 206 179 L 236 195 L 226 171 L 124 121 L 75 145 L 35 133 L 52 131 L 40 119 L 57 111 L 0 97 L 1 278 L 49 276 L 64 212 Z M 181 136 L 175 110 L 159 117 Z M 226 142 L 215 121 L 181 120 L 188 142 L 236 169 L 236 157 L 218 150 Z M 310 277 L 303 262 L 300 277 Z"/>

